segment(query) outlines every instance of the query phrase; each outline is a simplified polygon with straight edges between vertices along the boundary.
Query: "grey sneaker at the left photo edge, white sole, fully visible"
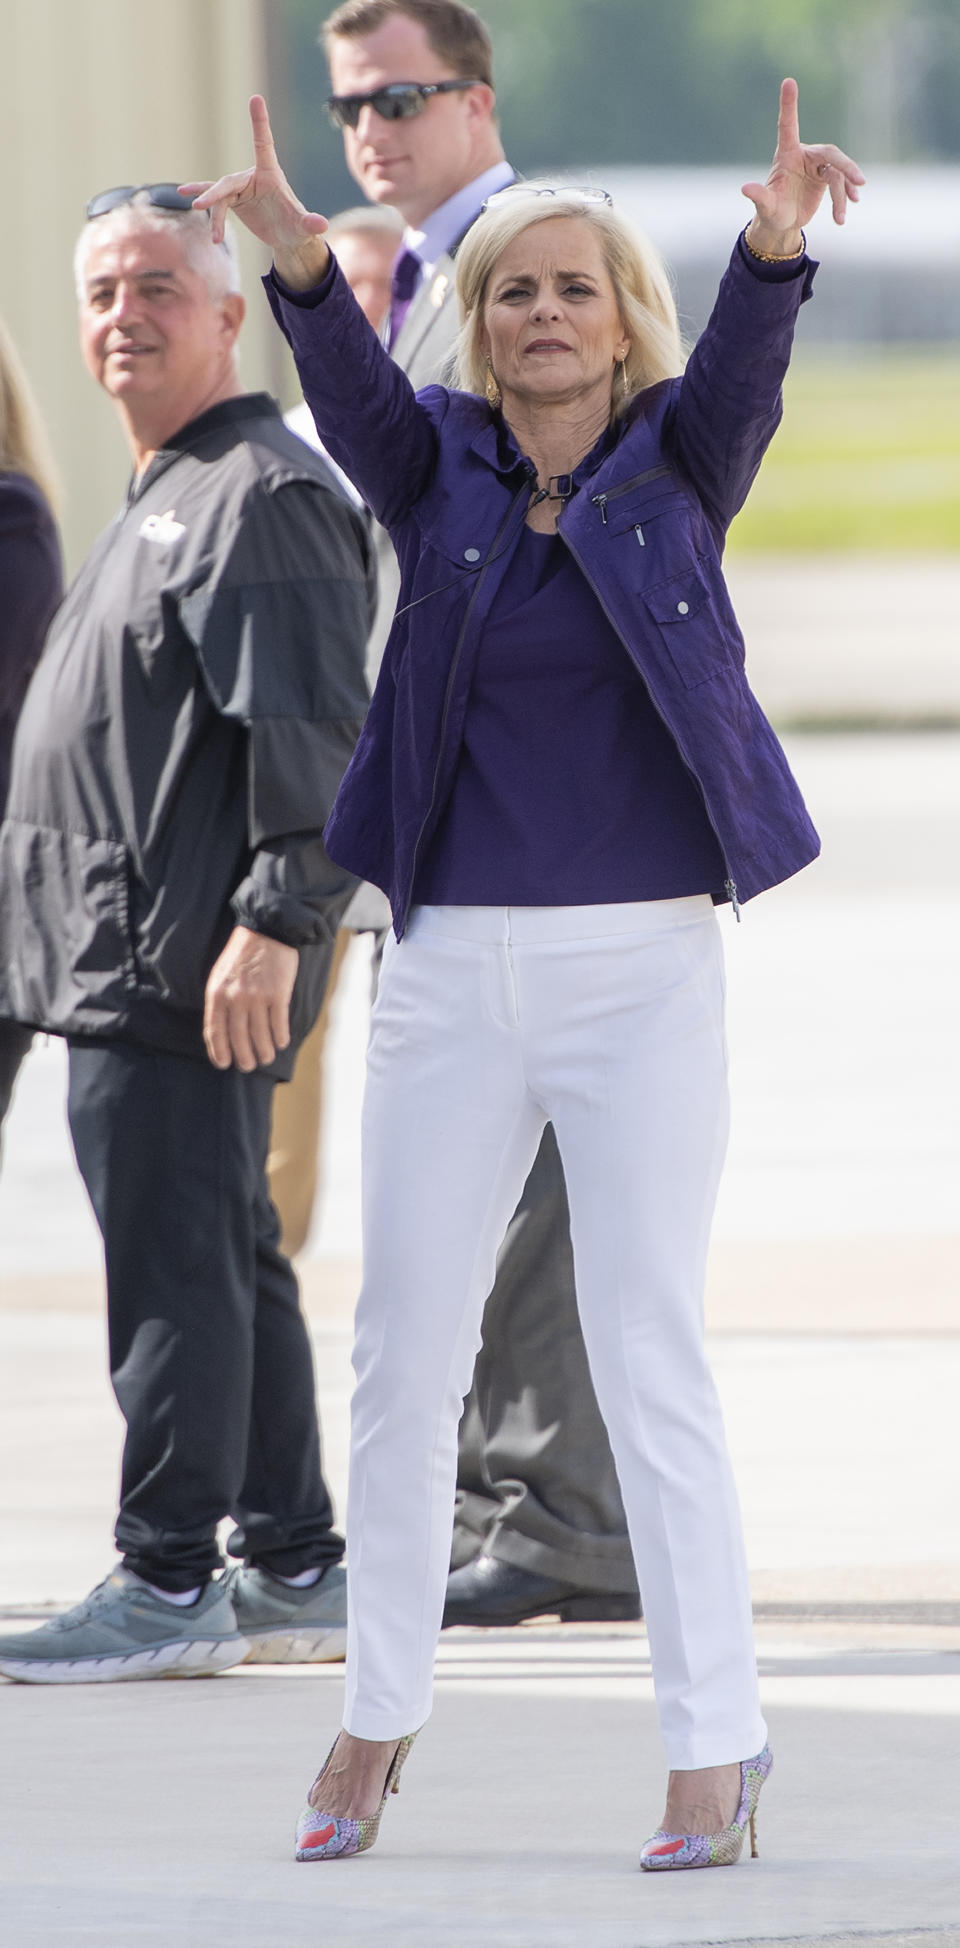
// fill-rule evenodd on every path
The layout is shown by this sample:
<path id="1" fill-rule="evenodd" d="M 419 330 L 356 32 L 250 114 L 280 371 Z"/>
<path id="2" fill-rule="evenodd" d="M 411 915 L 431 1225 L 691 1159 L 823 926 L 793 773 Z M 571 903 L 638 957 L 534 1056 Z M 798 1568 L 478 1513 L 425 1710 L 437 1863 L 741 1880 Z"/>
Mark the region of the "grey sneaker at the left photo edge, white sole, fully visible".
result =
<path id="1" fill-rule="evenodd" d="M 243 1664 L 247 1648 L 222 1582 L 208 1582 L 197 1603 L 179 1607 L 119 1566 L 62 1617 L 0 1636 L 0 1671 L 25 1685 L 210 1677 Z"/>

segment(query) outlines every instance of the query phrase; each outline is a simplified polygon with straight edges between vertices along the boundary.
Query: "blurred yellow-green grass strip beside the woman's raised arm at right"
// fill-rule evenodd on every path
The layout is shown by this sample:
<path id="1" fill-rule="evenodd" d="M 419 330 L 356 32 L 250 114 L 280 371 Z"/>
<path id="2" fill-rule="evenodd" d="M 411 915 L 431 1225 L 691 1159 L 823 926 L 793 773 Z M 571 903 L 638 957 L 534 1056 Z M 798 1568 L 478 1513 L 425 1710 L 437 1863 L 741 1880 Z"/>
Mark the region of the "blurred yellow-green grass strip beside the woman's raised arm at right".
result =
<path id="1" fill-rule="evenodd" d="M 798 353 L 736 553 L 960 553 L 960 351 Z"/>

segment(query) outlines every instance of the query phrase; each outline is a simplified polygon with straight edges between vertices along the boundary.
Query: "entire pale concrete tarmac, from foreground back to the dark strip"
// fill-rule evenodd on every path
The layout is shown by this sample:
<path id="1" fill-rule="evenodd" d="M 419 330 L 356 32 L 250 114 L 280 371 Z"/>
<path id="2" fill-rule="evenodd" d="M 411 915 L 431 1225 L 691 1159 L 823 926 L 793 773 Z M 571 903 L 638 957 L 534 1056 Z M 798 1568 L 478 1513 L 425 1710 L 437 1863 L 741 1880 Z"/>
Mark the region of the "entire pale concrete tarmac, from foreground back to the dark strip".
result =
<path id="1" fill-rule="evenodd" d="M 296 1866 L 290 1837 L 341 1669 L 0 1683 L 0 1948 L 958 1948 L 960 738 L 791 756 L 826 855 L 724 925 L 736 1112 L 709 1305 L 777 1751 L 761 1858 L 639 1874 L 662 1810 L 643 1627 L 444 1636 L 380 1843 L 337 1868 Z M 341 1508 L 362 988 L 356 964 L 304 1266 Z M 6 1615 L 111 1560 L 121 1430 L 95 1241 L 66 1149 L 51 1165 L 58 1060 L 31 1058 L 0 1194 Z"/>

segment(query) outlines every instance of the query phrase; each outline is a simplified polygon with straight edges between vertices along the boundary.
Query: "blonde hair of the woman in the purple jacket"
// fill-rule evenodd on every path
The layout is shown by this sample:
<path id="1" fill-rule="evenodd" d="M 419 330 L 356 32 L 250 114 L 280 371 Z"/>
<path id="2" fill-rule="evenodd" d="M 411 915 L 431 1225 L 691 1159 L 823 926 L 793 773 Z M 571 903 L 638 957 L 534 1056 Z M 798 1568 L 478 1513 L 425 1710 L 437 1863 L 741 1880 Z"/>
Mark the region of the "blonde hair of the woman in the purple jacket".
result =
<path id="1" fill-rule="evenodd" d="M 547 189 L 553 193 L 537 195 Z M 633 230 L 609 203 L 594 203 L 565 183 L 522 183 L 516 195 L 504 195 L 502 203 L 495 203 L 467 230 L 456 259 L 462 318 L 456 382 L 463 392 L 485 392 L 489 368 L 481 351 L 483 306 L 493 269 L 514 238 L 551 216 L 574 216 L 598 234 L 623 331 L 631 341 L 623 366 L 615 366 L 609 382 L 609 415 L 617 419 L 633 393 L 683 370 L 674 290 L 648 238 Z"/>

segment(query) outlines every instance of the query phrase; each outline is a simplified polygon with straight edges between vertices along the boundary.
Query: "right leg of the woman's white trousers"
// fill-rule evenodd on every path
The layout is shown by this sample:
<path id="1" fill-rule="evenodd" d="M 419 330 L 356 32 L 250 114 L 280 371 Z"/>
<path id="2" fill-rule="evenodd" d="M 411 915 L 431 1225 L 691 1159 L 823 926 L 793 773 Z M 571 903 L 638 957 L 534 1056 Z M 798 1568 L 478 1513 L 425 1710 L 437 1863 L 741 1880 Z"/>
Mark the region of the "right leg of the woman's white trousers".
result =
<path id="1" fill-rule="evenodd" d="M 534 966 L 528 1007 L 547 1017 L 541 1087 L 569 1182 L 584 1340 L 637 1556 L 664 1743 L 682 1769 L 748 1757 L 765 1736 L 740 1512 L 703 1352 L 726 1147 L 713 914 L 623 941 L 617 958 L 619 968 L 604 955 L 604 974 L 590 945 L 572 986 L 569 958 L 555 1021 Z M 625 995 L 639 997 L 635 1032 L 623 1032 Z M 528 1062 L 535 1075 L 530 1042 Z"/>

